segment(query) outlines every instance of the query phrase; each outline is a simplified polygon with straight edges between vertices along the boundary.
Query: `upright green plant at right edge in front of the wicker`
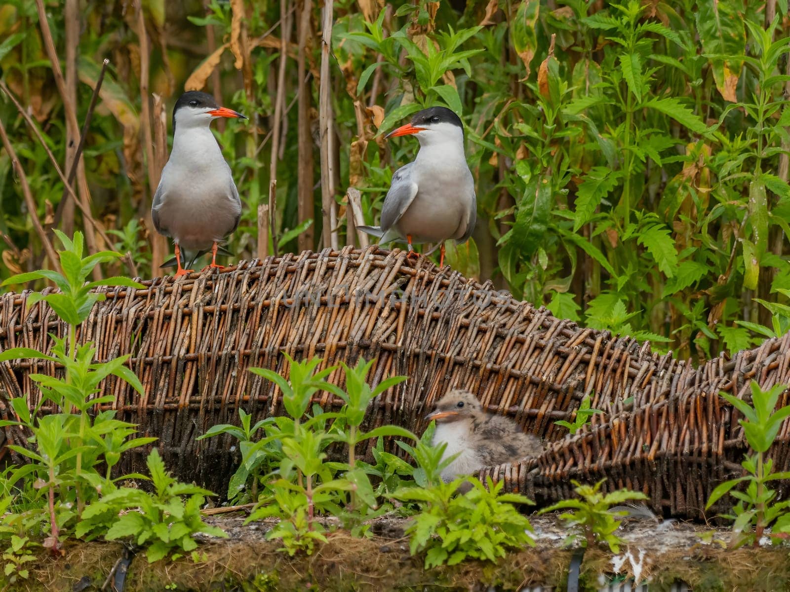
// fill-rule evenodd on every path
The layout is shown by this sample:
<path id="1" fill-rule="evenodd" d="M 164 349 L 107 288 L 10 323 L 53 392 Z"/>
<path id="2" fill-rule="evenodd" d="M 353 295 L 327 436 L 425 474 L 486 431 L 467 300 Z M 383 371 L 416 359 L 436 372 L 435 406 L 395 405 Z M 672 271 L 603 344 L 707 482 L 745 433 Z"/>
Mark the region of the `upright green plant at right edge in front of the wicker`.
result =
<path id="1" fill-rule="evenodd" d="M 790 478 L 790 471 L 773 473 L 773 461 L 763 456 L 776 440 L 784 420 L 790 416 L 790 405 L 774 411 L 779 395 L 787 387 L 776 384 L 763 391 L 754 380 L 750 386 L 751 405 L 725 392 L 720 392 L 720 395 L 743 414 L 743 419 L 738 422 L 743 426 L 754 455 L 746 455 L 741 463 L 746 474 L 717 485 L 705 504 L 705 509 L 710 508 L 727 493 L 738 500 L 732 508 L 733 513 L 723 515 L 733 521 L 732 530 L 736 536 L 732 545 L 735 547 L 747 543 L 758 545 L 763 532 L 772 525 L 772 534 L 790 533 L 790 500 L 775 501 L 776 490 L 766 485 L 769 481 Z M 739 484 L 745 484 L 746 488 L 743 491 L 735 489 Z"/>

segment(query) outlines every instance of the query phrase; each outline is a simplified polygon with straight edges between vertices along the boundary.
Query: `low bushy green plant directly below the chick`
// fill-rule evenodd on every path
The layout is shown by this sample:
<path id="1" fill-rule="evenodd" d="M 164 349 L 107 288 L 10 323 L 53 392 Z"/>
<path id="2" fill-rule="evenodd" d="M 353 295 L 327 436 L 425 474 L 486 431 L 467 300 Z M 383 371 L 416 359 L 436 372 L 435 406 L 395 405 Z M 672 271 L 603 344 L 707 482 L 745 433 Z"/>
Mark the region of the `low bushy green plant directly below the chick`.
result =
<path id="1" fill-rule="evenodd" d="M 465 482 L 472 489 L 456 495 Z M 502 493 L 503 481 L 486 485 L 474 477 L 427 488 L 406 487 L 393 494 L 397 500 L 420 507 L 406 527 L 412 555 L 425 551 L 425 568 L 455 565 L 468 558 L 496 561 L 509 549 L 534 546 L 532 526 L 513 504 L 532 504 L 517 493 Z"/>

